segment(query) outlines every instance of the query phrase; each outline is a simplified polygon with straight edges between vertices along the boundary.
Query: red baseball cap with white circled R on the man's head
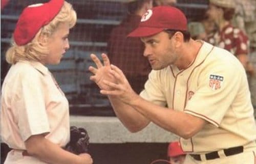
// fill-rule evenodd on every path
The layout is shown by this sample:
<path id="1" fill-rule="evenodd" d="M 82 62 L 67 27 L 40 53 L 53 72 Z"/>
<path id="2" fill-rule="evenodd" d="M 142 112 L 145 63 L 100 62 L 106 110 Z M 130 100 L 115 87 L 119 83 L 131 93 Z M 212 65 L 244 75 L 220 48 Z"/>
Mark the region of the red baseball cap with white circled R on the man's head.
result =
<path id="1" fill-rule="evenodd" d="M 161 31 L 187 31 L 187 19 L 179 9 L 170 6 L 154 7 L 141 17 L 139 26 L 128 37 L 147 37 Z"/>

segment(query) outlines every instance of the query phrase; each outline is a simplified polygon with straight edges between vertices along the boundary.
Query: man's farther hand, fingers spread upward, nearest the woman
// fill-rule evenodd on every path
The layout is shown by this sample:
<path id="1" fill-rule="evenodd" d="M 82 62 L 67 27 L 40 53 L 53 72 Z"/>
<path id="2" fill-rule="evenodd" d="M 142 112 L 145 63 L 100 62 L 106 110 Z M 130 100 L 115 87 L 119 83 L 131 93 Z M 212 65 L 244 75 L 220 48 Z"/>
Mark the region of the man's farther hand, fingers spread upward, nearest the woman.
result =
<path id="1" fill-rule="evenodd" d="M 91 54 L 91 58 L 96 64 L 97 68 L 94 68 L 92 66 L 89 67 L 89 70 L 94 74 L 90 76 L 90 79 L 94 81 L 100 89 L 103 90 L 111 90 L 111 88 L 108 85 L 105 85 L 103 83 L 103 80 L 108 80 L 111 82 L 115 81 L 115 78 L 110 74 L 109 70 L 111 70 L 110 67 L 110 61 L 108 56 L 106 56 L 105 53 L 101 54 L 103 65 L 100 62 L 100 60 L 96 57 L 95 54 Z"/>

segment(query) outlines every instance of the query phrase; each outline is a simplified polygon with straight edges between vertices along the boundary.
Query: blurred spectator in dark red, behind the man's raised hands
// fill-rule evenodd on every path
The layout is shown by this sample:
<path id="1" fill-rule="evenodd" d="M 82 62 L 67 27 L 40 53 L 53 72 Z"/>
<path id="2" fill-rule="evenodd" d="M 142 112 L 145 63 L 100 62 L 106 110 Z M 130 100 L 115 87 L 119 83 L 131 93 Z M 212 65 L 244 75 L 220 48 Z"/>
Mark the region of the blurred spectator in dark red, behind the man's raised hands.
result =
<path id="1" fill-rule="evenodd" d="M 144 88 L 151 66 L 143 57 L 144 45 L 141 40 L 126 36 L 137 28 L 141 16 L 153 7 L 153 0 L 130 0 L 126 5 L 129 13 L 112 30 L 107 51 L 112 64 L 123 71 L 134 91 L 139 93 Z"/>

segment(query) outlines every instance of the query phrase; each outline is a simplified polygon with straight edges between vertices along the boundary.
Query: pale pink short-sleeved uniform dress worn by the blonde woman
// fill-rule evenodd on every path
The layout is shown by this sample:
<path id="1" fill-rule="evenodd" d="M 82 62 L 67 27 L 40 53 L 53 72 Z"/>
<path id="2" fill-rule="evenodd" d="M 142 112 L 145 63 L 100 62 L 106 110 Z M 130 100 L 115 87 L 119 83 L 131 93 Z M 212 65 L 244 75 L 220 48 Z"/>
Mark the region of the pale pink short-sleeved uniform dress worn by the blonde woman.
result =
<path id="1" fill-rule="evenodd" d="M 2 141 L 13 149 L 5 163 L 46 163 L 23 156 L 25 141 L 35 134 L 65 146 L 70 140 L 69 103 L 48 68 L 39 62 L 12 65 L 2 87 Z"/>

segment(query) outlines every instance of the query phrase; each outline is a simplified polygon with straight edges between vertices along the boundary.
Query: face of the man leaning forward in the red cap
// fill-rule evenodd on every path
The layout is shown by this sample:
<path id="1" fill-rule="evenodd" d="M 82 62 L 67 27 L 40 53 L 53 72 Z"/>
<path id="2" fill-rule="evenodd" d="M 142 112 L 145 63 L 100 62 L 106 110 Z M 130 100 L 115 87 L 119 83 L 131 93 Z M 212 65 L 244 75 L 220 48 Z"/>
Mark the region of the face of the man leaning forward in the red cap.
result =
<path id="1" fill-rule="evenodd" d="M 175 42 L 173 37 L 170 38 L 166 32 L 143 37 L 141 41 L 145 45 L 144 57 L 148 59 L 152 69 L 160 70 L 177 62 L 179 56 L 175 48 Z"/>

